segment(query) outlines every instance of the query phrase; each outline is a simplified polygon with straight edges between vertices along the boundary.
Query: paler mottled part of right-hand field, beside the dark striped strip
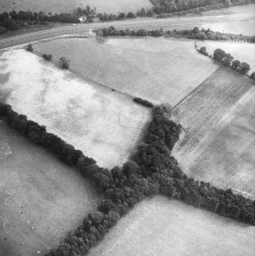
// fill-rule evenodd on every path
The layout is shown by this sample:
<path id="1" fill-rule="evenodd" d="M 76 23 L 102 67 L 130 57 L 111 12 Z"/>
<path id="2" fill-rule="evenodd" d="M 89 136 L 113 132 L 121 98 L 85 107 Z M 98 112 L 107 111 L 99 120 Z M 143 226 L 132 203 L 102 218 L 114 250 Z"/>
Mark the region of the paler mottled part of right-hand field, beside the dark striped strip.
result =
<path id="1" fill-rule="evenodd" d="M 189 168 L 195 177 L 212 180 L 255 199 L 255 87 L 221 118 Z"/>

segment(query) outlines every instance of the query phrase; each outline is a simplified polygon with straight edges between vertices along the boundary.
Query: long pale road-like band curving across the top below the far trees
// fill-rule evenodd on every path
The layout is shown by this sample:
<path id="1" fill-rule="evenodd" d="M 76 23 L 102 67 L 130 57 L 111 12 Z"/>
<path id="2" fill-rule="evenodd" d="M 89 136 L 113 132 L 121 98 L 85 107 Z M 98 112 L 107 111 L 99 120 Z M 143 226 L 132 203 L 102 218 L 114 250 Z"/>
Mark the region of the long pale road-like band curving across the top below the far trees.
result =
<path id="1" fill-rule="evenodd" d="M 248 11 L 243 14 L 234 15 L 213 15 L 202 17 L 185 17 L 185 18 L 143 18 L 124 21 L 110 21 L 110 22 L 98 22 L 90 24 L 74 24 L 72 26 L 66 26 L 62 28 L 53 28 L 45 31 L 38 31 L 29 34 L 22 34 L 16 37 L 9 37 L 0 40 L 0 49 L 6 47 L 15 47 L 19 44 L 27 44 L 31 41 L 37 41 L 47 39 L 50 37 L 57 37 L 64 34 L 86 34 L 91 29 L 107 28 L 114 26 L 118 29 L 132 29 L 132 28 L 160 28 L 160 27 L 176 27 L 181 25 L 198 25 L 198 24 L 211 24 L 222 22 L 234 22 L 234 21 L 250 21 L 255 19 L 255 11 Z"/>

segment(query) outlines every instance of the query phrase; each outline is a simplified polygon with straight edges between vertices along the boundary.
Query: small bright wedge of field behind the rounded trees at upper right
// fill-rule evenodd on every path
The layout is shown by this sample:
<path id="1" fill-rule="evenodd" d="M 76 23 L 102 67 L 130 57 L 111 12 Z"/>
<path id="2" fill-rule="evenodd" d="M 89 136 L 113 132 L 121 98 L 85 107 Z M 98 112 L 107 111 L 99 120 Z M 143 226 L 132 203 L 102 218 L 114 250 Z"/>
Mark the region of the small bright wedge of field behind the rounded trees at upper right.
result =
<path id="1" fill-rule="evenodd" d="M 248 63 L 250 65 L 250 72 L 248 74 L 253 73 L 253 71 L 255 71 L 255 44 L 222 41 L 204 41 L 198 42 L 198 47 L 206 47 L 207 52 L 211 55 L 213 55 L 214 50 L 220 48 L 224 50 L 226 53 L 231 53 L 231 55 L 234 57 L 234 60 L 240 60 L 240 62 L 244 61 Z"/>

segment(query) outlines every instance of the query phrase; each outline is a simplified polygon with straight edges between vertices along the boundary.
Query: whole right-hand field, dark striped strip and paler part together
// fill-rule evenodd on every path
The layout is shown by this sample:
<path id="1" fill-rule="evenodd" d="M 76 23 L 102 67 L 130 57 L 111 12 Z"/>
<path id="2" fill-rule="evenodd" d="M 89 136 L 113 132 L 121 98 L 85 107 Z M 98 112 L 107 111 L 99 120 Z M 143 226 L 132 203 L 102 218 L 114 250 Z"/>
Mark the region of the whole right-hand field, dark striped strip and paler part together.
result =
<path id="1" fill-rule="evenodd" d="M 195 179 L 255 198 L 253 81 L 221 67 L 173 110 L 183 131 L 173 148 Z"/>

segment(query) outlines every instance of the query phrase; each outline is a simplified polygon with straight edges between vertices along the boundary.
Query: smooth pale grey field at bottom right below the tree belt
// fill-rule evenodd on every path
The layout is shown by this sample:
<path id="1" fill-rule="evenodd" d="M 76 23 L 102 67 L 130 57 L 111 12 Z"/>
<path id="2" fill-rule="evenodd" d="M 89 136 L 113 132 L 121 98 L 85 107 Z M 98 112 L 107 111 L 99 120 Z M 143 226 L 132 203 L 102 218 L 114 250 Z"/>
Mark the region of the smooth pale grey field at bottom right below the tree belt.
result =
<path id="1" fill-rule="evenodd" d="M 163 196 L 145 199 L 89 256 L 252 256 L 255 228 Z"/>

